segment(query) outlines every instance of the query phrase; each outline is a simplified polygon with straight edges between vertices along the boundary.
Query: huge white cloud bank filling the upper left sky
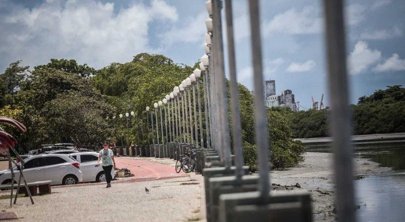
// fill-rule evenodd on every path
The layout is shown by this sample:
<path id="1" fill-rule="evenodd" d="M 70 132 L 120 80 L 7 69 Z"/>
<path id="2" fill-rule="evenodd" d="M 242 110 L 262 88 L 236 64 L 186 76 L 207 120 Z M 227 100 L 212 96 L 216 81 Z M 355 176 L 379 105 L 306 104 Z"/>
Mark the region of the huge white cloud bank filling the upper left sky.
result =
<path id="1" fill-rule="evenodd" d="M 50 58 L 76 59 L 100 68 L 111 62 L 126 62 L 148 51 L 149 24 L 155 20 L 174 22 L 176 8 L 161 0 L 150 6 L 132 4 L 114 9 L 113 3 L 48 1 L 32 9 L 10 3 L 10 13 L 0 15 L 0 55 L 7 63 L 23 60 L 33 66 Z"/>

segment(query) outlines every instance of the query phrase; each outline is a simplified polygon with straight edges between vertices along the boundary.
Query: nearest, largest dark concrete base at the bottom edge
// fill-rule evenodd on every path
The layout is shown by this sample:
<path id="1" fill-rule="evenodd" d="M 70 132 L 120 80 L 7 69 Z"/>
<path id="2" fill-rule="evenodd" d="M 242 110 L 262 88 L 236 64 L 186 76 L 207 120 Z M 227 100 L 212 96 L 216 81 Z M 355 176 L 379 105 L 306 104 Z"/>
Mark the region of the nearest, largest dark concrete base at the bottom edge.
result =
<path id="1" fill-rule="evenodd" d="M 268 201 L 263 202 L 259 191 L 221 194 L 219 221 L 313 220 L 309 192 L 270 192 L 268 195 Z"/>

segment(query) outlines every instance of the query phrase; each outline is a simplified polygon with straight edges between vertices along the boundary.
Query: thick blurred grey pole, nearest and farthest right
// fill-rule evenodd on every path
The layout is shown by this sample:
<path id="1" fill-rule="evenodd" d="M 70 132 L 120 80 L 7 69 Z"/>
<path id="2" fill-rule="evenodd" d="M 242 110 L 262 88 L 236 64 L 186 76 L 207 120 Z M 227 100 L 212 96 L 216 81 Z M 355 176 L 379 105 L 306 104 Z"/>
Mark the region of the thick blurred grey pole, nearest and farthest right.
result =
<path id="1" fill-rule="evenodd" d="M 344 3 L 328 0 L 324 7 L 338 220 L 355 221 Z"/>

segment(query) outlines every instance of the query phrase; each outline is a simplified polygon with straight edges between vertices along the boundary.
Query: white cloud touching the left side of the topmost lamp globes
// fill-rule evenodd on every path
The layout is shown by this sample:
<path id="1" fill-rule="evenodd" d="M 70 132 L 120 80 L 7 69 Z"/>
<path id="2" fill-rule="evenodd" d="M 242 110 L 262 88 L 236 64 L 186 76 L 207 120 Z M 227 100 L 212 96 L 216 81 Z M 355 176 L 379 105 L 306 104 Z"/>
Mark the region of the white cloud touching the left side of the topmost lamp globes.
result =
<path id="1" fill-rule="evenodd" d="M 207 32 L 207 12 L 201 12 L 196 17 L 189 18 L 181 27 L 173 27 L 170 31 L 162 34 L 164 44 L 174 43 L 199 43 L 204 41 L 204 34 Z"/>

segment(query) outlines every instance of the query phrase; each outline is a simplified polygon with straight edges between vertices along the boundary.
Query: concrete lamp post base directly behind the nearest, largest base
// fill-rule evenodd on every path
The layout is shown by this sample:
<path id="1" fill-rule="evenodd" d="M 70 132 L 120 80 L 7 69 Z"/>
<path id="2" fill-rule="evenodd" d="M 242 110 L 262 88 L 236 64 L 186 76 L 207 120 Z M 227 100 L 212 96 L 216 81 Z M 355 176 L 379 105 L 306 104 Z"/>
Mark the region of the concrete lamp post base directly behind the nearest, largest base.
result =
<path id="1" fill-rule="evenodd" d="M 258 190 L 259 176 L 245 175 L 240 180 L 236 176 L 221 176 L 209 179 L 210 183 L 210 204 L 209 208 L 211 221 L 218 221 L 219 197 L 225 193 L 240 193 Z M 207 194 L 206 194 L 207 195 Z"/>

